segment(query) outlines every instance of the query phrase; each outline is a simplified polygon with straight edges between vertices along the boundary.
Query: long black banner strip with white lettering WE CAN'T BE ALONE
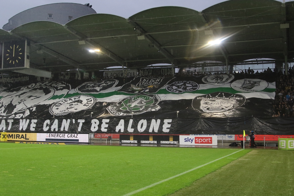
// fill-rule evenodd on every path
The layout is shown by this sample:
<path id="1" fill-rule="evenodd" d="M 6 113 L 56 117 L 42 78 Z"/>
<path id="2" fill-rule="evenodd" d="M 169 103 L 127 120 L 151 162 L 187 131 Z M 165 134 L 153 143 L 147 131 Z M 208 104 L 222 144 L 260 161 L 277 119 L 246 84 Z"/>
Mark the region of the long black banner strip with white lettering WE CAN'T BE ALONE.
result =
<path id="1" fill-rule="evenodd" d="M 256 134 L 291 135 L 293 119 L 195 118 L 195 119 L 2 119 L 0 131 L 31 133 L 104 134 Z"/>

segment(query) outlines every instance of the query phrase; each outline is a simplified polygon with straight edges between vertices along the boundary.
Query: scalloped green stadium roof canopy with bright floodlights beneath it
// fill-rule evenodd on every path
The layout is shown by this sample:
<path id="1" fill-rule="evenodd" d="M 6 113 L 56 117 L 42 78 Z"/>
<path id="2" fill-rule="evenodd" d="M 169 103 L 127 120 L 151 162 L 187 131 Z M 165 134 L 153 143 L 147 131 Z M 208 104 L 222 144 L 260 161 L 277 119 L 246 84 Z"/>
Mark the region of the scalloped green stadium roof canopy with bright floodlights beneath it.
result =
<path id="1" fill-rule="evenodd" d="M 236 65 L 254 58 L 290 62 L 294 57 L 294 2 L 230 0 L 202 12 L 159 7 L 127 19 L 90 14 L 66 25 L 36 21 L 10 32 L 0 29 L 0 42 L 23 38 L 31 41 L 31 67 L 52 72 L 157 63 L 188 67 L 201 61 Z M 208 44 L 212 40 L 221 43 Z M 100 52 L 89 52 L 95 49 Z"/>

